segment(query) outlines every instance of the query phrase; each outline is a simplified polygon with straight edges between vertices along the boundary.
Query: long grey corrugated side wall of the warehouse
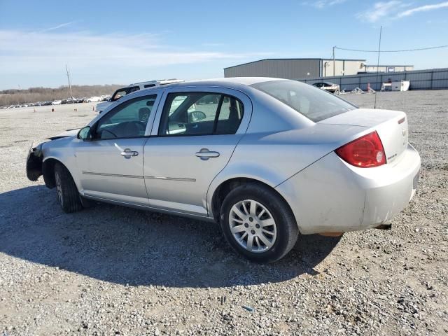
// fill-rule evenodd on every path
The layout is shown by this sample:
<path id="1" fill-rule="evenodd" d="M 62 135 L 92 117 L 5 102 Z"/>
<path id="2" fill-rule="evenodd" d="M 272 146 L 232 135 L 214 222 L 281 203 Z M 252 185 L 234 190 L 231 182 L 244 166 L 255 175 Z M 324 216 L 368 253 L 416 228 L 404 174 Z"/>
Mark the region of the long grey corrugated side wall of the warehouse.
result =
<path id="1" fill-rule="evenodd" d="M 263 59 L 226 68 L 224 77 L 314 78 L 320 70 L 321 59 Z"/>

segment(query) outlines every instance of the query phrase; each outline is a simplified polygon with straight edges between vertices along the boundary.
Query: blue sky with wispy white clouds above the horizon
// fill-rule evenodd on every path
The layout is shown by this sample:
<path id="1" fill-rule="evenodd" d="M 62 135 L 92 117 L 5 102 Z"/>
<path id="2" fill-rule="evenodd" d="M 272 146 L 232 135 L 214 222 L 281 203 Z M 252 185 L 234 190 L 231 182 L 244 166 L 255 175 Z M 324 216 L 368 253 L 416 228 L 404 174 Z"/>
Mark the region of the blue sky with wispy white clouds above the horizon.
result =
<path id="1" fill-rule="evenodd" d="M 215 78 L 276 57 L 330 57 L 331 48 L 448 44 L 448 1 L 0 0 L 0 90 Z M 337 50 L 337 58 L 377 55 Z M 381 54 L 381 64 L 448 67 L 448 48 Z"/>

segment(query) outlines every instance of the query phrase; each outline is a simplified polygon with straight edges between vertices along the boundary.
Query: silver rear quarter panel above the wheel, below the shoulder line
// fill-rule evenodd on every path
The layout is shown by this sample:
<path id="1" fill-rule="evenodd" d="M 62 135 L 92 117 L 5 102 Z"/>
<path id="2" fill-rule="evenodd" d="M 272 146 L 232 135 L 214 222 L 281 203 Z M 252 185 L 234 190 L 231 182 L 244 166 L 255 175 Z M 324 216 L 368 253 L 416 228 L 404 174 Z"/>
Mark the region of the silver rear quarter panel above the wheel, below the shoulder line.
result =
<path id="1" fill-rule="evenodd" d="M 367 130 L 368 127 L 360 126 L 314 124 L 300 130 L 245 134 L 228 165 L 209 187 L 209 216 L 212 216 L 211 199 L 221 183 L 244 177 L 275 188 Z"/>

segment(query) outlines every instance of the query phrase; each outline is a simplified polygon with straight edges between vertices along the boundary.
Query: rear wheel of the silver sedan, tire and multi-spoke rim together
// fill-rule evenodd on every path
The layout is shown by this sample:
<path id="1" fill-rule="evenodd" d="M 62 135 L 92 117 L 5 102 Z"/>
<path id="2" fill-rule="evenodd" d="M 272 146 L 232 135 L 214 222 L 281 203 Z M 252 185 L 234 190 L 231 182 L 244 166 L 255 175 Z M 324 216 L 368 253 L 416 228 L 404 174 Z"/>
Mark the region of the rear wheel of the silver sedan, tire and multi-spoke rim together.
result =
<path id="1" fill-rule="evenodd" d="M 285 200 L 258 183 L 239 186 L 225 197 L 221 228 L 235 251 L 256 262 L 283 258 L 299 235 Z"/>

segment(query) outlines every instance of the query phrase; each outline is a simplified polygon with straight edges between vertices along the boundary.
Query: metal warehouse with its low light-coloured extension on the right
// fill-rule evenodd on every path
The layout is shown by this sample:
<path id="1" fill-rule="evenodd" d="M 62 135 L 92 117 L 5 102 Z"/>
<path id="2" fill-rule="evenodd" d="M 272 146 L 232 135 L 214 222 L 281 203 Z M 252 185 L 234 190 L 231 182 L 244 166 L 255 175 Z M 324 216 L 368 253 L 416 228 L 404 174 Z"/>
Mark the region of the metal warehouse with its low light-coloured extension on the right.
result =
<path id="1" fill-rule="evenodd" d="M 380 72 L 412 70 L 413 66 L 379 66 Z M 349 76 L 377 71 L 377 66 L 365 64 L 365 59 L 269 58 L 230 66 L 224 77 L 276 77 L 286 79 Z"/>

